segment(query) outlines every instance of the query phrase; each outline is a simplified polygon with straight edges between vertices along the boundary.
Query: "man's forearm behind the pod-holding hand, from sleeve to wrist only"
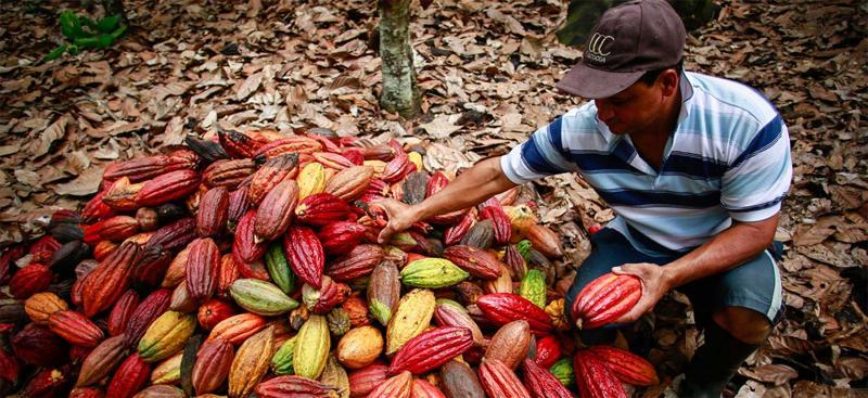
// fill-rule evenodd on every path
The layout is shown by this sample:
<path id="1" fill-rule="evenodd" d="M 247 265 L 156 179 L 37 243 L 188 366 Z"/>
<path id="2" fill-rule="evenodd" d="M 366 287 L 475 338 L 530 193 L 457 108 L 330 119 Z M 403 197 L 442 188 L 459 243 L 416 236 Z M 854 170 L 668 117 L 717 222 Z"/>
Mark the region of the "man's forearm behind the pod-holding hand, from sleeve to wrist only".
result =
<path id="1" fill-rule="evenodd" d="M 731 269 L 762 253 L 775 236 L 778 216 L 751 223 L 735 223 L 704 245 L 666 265 L 669 288 Z"/>

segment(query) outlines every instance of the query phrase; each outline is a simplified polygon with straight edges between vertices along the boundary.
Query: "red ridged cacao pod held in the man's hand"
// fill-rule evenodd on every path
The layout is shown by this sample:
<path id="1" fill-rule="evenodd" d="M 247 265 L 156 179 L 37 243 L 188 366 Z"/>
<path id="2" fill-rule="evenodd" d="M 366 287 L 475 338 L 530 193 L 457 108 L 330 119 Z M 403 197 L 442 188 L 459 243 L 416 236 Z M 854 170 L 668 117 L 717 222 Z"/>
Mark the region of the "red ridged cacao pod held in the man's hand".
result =
<path id="1" fill-rule="evenodd" d="M 642 283 L 634 275 L 605 273 L 578 292 L 572 314 L 578 329 L 605 325 L 629 312 L 642 296 Z"/>

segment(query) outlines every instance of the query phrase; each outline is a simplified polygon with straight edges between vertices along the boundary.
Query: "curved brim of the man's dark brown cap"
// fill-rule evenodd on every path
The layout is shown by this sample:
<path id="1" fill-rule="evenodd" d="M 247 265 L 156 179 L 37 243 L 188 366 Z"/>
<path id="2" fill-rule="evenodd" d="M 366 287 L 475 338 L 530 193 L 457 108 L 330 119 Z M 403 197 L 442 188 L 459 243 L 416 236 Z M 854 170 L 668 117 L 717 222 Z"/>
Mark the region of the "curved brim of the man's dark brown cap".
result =
<path id="1" fill-rule="evenodd" d="M 617 94 L 639 80 L 644 72 L 607 72 L 579 62 L 556 86 L 559 90 L 586 99 Z"/>

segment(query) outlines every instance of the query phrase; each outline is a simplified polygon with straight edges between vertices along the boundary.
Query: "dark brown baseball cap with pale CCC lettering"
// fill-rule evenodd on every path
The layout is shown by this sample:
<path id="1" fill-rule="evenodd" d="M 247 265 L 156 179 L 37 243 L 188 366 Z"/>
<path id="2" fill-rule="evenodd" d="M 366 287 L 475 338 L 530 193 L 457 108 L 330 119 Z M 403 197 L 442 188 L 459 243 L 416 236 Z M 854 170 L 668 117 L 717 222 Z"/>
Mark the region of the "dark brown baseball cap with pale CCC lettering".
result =
<path id="1" fill-rule="evenodd" d="M 635 0 L 609 9 L 590 30 L 582 60 L 558 89 L 586 99 L 612 97 L 648 70 L 681 60 L 687 33 L 665 0 Z"/>

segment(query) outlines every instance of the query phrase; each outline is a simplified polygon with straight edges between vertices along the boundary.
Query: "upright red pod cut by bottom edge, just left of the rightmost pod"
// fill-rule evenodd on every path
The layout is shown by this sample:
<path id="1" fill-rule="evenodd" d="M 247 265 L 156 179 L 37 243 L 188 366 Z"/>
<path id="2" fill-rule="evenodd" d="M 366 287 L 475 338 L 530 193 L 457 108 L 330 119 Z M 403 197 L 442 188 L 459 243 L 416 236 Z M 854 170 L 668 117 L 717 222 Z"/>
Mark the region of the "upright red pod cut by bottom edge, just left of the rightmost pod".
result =
<path id="1" fill-rule="evenodd" d="M 576 384 L 583 398 L 626 398 L 627 393 L 612 370 L 600 357 L 580 350 L 573 358 Z"/>

